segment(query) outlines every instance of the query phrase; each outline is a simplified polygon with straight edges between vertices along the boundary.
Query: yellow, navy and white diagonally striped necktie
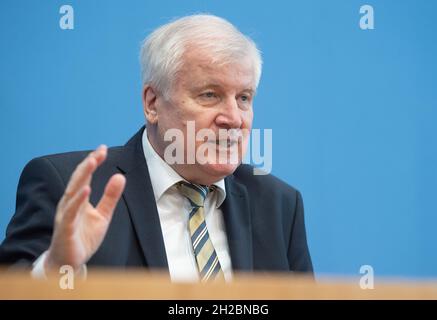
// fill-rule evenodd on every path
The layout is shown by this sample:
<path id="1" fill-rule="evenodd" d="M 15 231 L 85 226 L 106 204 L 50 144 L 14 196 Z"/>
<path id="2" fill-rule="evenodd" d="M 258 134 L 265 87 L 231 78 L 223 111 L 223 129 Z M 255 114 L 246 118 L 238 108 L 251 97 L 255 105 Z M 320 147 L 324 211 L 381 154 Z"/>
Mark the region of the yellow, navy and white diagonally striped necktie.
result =
<path id="1" fill-rule="evenodd" d="M 201 281 L 224 279 L 223 271 L 206 228 L 203 205 L 210 189 L 207 186 L 179 182 L 179 192 L 191 204 L 188 229 Z M 212 190 L 212 189 L 211 189 Z"/>

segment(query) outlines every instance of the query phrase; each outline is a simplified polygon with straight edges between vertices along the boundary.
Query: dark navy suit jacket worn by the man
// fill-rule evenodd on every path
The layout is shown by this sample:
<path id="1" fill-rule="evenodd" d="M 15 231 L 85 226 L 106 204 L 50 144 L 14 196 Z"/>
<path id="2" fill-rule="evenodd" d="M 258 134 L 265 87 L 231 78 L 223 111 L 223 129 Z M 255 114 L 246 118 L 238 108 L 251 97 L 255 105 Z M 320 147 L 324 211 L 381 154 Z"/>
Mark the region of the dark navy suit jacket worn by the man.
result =
<path id="1" fill-rule="evenodd" d="M 144 127 L 122 147 L 108 150 L 92 180 L 96 204 L 114 173 L 125 175 L 122 199 L 103 243 L 88 266 L 167 268 L 158 211 L 142 147 Z M 88 152 L 33 159 L 24 168 L 16 212 L 0 246 L 0 263 L 30 266 L 50 245 L 56 205 L 76 166 Z M 240 165 L 225 178 L 222 204 L 235 271 L 312 272 L 300 193 L 279 179 L 255 176 Z"/>

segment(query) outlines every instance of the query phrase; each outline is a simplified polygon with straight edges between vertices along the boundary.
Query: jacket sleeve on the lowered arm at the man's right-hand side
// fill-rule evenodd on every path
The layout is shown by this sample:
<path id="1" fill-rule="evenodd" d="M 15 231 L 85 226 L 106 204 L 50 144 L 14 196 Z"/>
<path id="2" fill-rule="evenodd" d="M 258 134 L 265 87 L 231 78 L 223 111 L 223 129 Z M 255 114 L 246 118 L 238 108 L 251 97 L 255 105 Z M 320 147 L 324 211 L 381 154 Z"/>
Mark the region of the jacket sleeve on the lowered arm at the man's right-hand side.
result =
<path id="1" fill-rule="evenodd" d="M 290 263 L 290 270 L 312 273 L 313 264 L 306 238 L 303 200 L 300 192 L 296 191 L 296 193 L 294 221 L 288 247 L 288 261 Z"/>

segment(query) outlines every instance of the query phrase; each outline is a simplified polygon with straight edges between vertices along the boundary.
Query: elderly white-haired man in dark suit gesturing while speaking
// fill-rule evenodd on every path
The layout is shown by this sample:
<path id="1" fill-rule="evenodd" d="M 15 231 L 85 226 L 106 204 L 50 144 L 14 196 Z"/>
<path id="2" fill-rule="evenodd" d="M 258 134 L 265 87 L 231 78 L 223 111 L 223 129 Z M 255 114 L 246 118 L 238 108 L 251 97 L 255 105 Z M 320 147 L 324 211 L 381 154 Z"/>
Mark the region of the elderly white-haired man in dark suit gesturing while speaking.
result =
<path id="1" fill-rule="evenodd" d="M 204 281 L 311 273 L 299 192 L 241 164 L 261 75 L 252 40 L 224 19 L 188 16 L 144 41 L 141 66 L 147 126 L 122 147 L 30 161 L 0 262 L 35 276 L 62 265 L 161 268 L 173 280 Z M 190 140 L 189 123 L 213 138 Z M 167 159 L 172 130 L 194 141 L 185 161 Z M 187 161 L 205 144 L 206 159 Z"/>

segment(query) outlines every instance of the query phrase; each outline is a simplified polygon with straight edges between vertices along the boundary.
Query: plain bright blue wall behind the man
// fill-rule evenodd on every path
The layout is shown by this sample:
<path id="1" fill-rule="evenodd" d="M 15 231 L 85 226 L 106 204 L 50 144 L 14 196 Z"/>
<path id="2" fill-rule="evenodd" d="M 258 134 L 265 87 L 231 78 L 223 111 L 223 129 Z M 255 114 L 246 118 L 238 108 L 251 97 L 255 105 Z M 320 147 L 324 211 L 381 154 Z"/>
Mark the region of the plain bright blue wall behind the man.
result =
<path id="1" fill-rule="evenodd" d="M 71 4 L 74 30 L 59 28 Z M 371 4 L 375 30 L 359 28 Z M 143 124 L 141 40 L 209 12 L 263 52 L 254 128 L 305 201 L 317 275 L 437 276 L 436 1 L 0 2 L 0 239 L 31 158 Z M 268 213 L 266 213 L 268 214 Z"/>

